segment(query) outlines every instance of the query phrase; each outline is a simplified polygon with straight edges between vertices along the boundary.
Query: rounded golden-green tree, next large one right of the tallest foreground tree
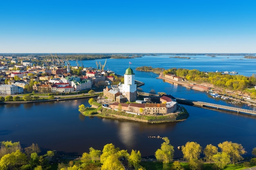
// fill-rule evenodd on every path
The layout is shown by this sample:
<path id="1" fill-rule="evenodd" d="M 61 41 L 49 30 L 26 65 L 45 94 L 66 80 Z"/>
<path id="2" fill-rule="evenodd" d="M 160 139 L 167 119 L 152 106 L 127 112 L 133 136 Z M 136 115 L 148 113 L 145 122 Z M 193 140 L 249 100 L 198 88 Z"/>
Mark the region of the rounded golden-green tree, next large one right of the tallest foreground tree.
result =
<path id="1" fill-rule="evenodd" d="M 196 142 L 187 142 L 182 146 L 183 157 L 186 160 L 199 159 L 202 147 Z"/>

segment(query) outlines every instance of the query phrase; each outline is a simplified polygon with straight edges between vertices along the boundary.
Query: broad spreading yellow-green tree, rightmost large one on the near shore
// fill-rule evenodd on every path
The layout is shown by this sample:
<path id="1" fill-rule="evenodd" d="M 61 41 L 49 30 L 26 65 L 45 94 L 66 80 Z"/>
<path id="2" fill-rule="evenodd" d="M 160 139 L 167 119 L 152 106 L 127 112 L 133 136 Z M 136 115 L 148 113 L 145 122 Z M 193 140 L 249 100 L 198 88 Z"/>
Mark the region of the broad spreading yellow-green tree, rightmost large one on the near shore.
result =
<path id="1" fill-rule="evenodd" d="M 222 152 L 226 152 L 229 155 L 233 164 L 237 161 L 243 160 L 241 155 L 246 153 L 241 144 L 232 143 L 231 141 L 224 141 L 218 144 L 218 147 Z"/>

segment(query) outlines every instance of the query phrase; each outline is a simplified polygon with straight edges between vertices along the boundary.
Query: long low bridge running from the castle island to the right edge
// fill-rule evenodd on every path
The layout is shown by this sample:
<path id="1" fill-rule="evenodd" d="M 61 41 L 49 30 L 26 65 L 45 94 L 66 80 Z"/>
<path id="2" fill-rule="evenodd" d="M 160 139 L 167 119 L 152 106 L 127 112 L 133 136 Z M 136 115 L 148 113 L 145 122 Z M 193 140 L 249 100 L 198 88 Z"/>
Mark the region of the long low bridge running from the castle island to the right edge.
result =
<path id="1" fill-rule="evenodd" d="M 226 110 L 226 111 L 231 111 L 231 112 L 247 113 L 247 114 L 251 114 L 251 115 L 256 115 L 256 111 L 247 110 L 247 109 L 243 109 L 243 108 L 236 108 L 236 107 L 231 107 L 231 106 L 224 106 L 224 105 L 220 105 L 220 104 L 212 104 L 212 103 L 207 103 L 207 102 L 199 102 L 199 101 L 193 101 L 193 100 L 181 99 L 181 98 L 176 98 L 176 101 L 180 104 L 197 106 L 197 107 L 206 108 L 206 109 Z"/>

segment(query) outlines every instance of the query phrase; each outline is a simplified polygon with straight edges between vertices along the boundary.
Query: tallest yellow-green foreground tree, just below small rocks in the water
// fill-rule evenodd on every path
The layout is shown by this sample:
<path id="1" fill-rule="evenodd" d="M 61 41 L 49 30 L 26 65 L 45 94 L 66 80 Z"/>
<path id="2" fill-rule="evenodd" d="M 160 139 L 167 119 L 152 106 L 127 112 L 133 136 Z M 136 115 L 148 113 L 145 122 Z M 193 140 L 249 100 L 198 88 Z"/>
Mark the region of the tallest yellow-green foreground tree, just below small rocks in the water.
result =
<path id="1" fill-rule="evenodd" d="M 161 148 L 155 152 L 155 157 L 158 161 L 163 162 L 163 169 L 166 170 L 167 164 L 173 161 L 174 148 L 171 146 L 168 137 L 163 137 L 164 142 L 161 144 Z"/>

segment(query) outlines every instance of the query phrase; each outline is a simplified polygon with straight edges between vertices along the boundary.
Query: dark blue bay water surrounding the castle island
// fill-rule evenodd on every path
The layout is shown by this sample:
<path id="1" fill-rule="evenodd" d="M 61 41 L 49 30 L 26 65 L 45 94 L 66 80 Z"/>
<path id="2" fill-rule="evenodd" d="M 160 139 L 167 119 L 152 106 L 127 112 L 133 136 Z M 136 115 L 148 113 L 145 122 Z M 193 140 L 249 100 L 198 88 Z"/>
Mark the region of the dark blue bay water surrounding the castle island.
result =
<path id="1" fill-rule="evenodd" d="M 158 57 L 162 59 L 159 60 Z M 225 59 L 224 56 L 220 57 Z M 199 58 L 201 60 L 198 59 L 200 64 L 194 63 L 194 68 L 209 68 L 207 71 L 210 71 L 210 66 L 205 66 L 209 62 L 216 62 L 215 65 L 218 66 L 220 66 L 220 64 L 217 64 L 218 62 L 222 63 L 222 60 L 214 61 L 218 60 L 218 56 L 199 56 Z M 212 68 L 212 70 L 222 71 L 221 68 L 226 68 L 225 70 L 228 71 L 238 71 L 239 74 L 248 73 L 247 76 L 252 75 L 254 73 L 252 71 L 254 69 L 253 65 L 255 65 L 254 61 L 256 60 L 251 59 L 247 62 L 247 60 L 239 60 L 237 58 L 242 57 L 229 56 L 229 64 L 232 66 L 227 64 L 228 66 L 220 66 Z M 167 62 L 168 60 L 172 62 Z M 194 60 L 197 61 L 197 59 Z M 243 69 L 234 68 L 237 60 L 243 62 L 241 64 Z M 101 63 L 105 62 L 105 60 L 98 61 L 101 61 Z M 193 91 L 177 84 L 163 82 L 162 79 L 155 78 L 158 76 L 157 74 L 135 71 L 137 66 L 150 65 L 152 67 L 164 68 L 183 68 L 183 66 L 186 66 L 186 68 L 192 69 L 193 66 L 189 68 L 188 66 L 190 65 L 187 63 L 192 61 L 192 59 L 173 59 L 168 56 L 108 59 L 106 68 L 122 75 L 128 67 L 129 61 L 132 62 L 130 66 L 135 72 L 135 79 L 145 82 L 145 85 L 141 86 L 145 92 L 154 89 L 156 92 L 166 92 L 174 97 L 231 105 L 222 99 L 214 99 L 205 92 Z M 244 61 L 246 61 L 247 65 Z M 173 64 L 175 66 L 169 66 L 170 63 L 176 64 Z M 183 65 L 178 66 L 178 63 Z M 94 66 L 95 60 L 83 61 L 83 64 L 84 66 Z M 203 66 L 206 68 L 203 68 Z M 247 71 L 247 69 L 250 71 Z M 160 148 L 163 142 L 161 139 L 150 139 L 148 136 L 160 135 L 168 137 L 171 144 L 175 146 L 175 158 L 182 157 L 182 152 L 177 150 L 177 146 L 185 145 L 187 141 L 196 141 L 203 148 L 207 144 L 217 146 L 223 141 L 236 142 L 242 144 L 245 150 L 247 150 L 248 153 L 245 156 L 250 156 L 252 148 L 256 147 L 256 118 L 251 116 L 205 110 L 184 105 L 190 114 L 186 121 L 146 124 L 133 121 L 84 117 L 78 112 L 78 106 L 81 104 L 89 106 L 88 99 L 40 104 L 0 105 L 0 141 L 20 141 L 22 147 L 36 143 L 43 152 L 58 150 L 61 154 L 65 155 L 81 155 L 83 152 L 88 152 L 90 147 L 102 150 L 104 145 L 113 143 L 120 149 L 127 149 L 128 152 L 131 149 L 140 150 L 143 157 L 148 157 L 153 156 L 154 152 L 157 148 Z M 236 104 L 236 106 L 255 110 L 253 106 L 243 104 Z"/>

